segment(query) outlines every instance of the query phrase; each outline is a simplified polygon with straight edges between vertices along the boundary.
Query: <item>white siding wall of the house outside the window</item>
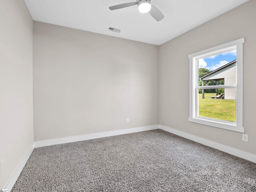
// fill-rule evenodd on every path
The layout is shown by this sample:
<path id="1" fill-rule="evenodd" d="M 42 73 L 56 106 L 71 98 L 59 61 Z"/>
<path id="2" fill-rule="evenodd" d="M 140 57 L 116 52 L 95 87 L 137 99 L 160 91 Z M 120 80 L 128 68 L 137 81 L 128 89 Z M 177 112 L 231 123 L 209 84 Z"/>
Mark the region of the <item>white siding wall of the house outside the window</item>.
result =
<path id="1" fill-rule="evenodd" d="M 236 62 L 219 71 L 216 71 L 213 74 L 206 76 L 202 80 L 211 80 L 211 79 L 218 79 L 218 78 L 224 78 L 225 85 L 236 84 Z M 236 89 L 235 88 L 225 89 L 224 98 L 236 99 Z"/>

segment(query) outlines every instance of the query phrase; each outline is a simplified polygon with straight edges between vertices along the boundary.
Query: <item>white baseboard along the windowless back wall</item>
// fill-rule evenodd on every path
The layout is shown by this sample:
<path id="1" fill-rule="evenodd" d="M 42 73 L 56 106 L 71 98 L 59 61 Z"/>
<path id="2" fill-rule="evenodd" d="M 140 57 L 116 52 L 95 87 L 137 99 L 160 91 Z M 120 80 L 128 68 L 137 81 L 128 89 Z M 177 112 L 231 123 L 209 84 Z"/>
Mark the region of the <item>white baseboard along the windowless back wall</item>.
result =
<path id="1" fill-rule="evenodd" d="M 134 132 L 148 131 L 148 130 L 154 130 L 158 128 L 159 128 L 159 125 L 151 125 L 151 126 L 136 127 L 136 128 L 130 128 L 130 129 L 114 130 L 114 131 L 92 133 L 92 134 L 86 134 L 86 135 L 78 135 L 78 136 L 36 141 L 34 143 L 35 143 L 35 148 L 37 148 L 37 147 L 50 146 L 50 145 L 56 145 L 56 144 L 70 143 L 70 142 L 109 137 L 109 136 L 115 136 L 115 135 L 122 135 L 122 134 L 134 133 Z"/>

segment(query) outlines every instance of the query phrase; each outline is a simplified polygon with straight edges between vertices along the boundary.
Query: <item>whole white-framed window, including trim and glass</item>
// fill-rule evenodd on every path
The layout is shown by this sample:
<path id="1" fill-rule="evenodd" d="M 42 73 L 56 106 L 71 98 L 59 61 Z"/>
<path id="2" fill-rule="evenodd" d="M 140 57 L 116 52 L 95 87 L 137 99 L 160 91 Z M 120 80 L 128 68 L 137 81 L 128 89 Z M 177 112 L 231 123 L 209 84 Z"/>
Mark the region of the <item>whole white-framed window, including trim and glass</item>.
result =
<path id="1" fill-rule="evenodd" d="M 244 132 L 244 38 L 188 56 L 190 122 Z"/>

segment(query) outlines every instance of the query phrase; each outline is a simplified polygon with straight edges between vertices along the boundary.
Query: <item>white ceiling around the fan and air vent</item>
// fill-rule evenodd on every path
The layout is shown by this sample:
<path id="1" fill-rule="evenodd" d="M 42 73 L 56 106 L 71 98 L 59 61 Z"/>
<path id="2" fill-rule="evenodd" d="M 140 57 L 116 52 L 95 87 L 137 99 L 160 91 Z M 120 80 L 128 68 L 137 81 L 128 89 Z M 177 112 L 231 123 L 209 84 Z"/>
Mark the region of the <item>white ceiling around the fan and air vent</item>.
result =
<path id="1" fill-rule="evenodd" d="M 152 0 L 165 18 L 157 22 L 138 6 L 109 10 L 136 0 L 25 0 L 33 20 L 160 45 L 248 0 Z M 109 27 L 121 29 L 111 32 Z"/>

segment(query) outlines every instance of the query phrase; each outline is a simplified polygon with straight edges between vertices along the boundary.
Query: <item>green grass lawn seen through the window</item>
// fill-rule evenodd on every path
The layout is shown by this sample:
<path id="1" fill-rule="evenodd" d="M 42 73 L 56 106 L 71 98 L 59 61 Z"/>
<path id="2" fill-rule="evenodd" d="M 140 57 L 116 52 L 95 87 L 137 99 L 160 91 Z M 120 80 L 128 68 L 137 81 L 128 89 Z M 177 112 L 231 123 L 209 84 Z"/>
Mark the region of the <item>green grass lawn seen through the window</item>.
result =
<path id="1" fill-rule="evenodd" d="M 212 99 L 211 96 L 216 96 L 216 93 L 205 93 L 204 99 L 202 94 L 199 96 L 199 116 L 236 121 L 236 100 Z"/>

